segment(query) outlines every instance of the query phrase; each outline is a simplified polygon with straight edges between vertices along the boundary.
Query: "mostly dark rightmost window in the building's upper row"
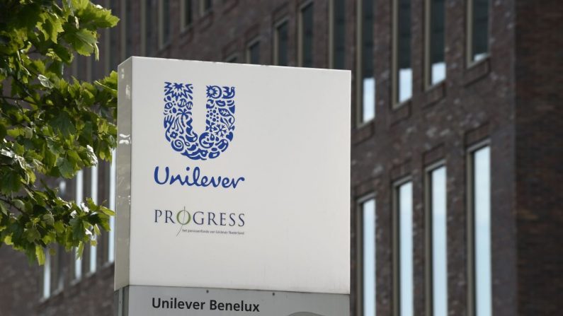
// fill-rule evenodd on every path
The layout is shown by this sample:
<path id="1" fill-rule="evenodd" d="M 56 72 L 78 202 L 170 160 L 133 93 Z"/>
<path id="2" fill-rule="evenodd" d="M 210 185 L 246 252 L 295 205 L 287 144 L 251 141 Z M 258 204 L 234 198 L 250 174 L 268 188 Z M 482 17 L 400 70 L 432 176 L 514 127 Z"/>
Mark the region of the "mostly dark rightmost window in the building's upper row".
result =
<path id="1" fill-rule="evenodd" d="M 473 61 L 482 59 L 489 52 L 489 0 L 473 0 Z"/>

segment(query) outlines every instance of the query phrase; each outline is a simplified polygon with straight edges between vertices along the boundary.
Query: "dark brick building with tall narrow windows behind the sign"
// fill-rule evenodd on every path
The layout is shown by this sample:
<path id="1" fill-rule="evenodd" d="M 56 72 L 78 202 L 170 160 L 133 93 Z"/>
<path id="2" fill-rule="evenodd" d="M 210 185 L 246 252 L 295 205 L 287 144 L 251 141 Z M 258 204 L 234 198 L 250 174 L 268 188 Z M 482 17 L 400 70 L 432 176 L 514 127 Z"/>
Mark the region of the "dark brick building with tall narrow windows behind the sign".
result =
<path id="1" fill-rule="evenodd" d="M 103 4 L 121 22 L 80 78 L 130 55 L 353 71 L 351 315 L 562 310 L 561 1 Z M 114 168 L 59 187 L 112 206 Z M 111 315 L 112 262 L 111 235 L 46 268 L 1 247 L 0 316 Z"/>

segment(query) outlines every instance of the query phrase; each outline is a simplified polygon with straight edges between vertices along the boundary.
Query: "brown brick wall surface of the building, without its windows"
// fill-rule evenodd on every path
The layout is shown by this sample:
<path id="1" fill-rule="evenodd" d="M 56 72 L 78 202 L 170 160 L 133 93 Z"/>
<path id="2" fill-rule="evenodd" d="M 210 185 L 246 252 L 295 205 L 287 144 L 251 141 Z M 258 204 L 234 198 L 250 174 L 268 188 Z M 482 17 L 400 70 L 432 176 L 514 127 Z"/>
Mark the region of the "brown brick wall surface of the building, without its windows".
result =
<path id="1" fill-rule="evenodd" d="M 297 13 L 307 1 L 215 1 L 212 12 L 204 16 L 198 14 L 200 1 L 193 2 L 193 25 L 181 30 L 179 1 L 171 1 L 173 40 L 162 49 L 152 49 L 157 57 L 222 61 L 235 54 L 241 62 L 246 44 L 258 38 L 261 63 L 271 64 L 273 25 L 288 18 L 289 64 L 297 64 Z M 377 117 L 352 131 L 352 315 L 360 312 L 356 303 L 360 284 L 355 201 L 375 193 L 377 314 L 391 315 L 392 185 L 407 176 L 414 192 L 414 309 L 416 315 L 424 315 L 423 177 L 425 167 L 437 160 L 445 160 L 448 175 L 449 312 L 467 315 L 467 148 L 483 139 L 491 144 L 493 314 L 555 315 L 561 310 L 561 303 L 555 300 L 563 290 L 563 256 L 558 247 L 563 240 L 562 194 L 557 183 L 562 179 L 558 164 L 562 155 L 557 145 L 562 139 L 563 119 L 557 105 L 562 105 L 563 37 L 554 31 L 563 29 L 559 2 L 491 0 L 490 57 L 467 67 L 467 2 L 446 1 L 447 79 L 424 90 L 423 1 L 412 0 L 414 91 L 409 103 L 393 109 L 392 1 L 375 0 Z M 132 6 L 135 55 L 142 53 L 140 3 L 134 1 Z M 327 3 L 314 1 L 314 66 L 320 68 L 329 64 Z M 348 69 L 356 69 L 357 63 L 356 8 L 356 1 L 346 1 Z M 121 37 L 120 28 L 123 25 L 118 28 Z M 103 42 L 100 46 L 104 52 Z M 355 76 L 352 84 L 354 89 Z M 353 104 L 355 95 L 351 95 Z M 356 117 L 355 106 L 352 112 Z M 0 263 L 10 262 L 6 267 L 0 265 L 0 278 L 4 278 L 0 288 L 3 293 L 11 288 L 7 292 L 14 297 L 0 296 L 2 312 L 4 306 L 24 304 L 28 311 L 22 315 L 34 315 L 31 308 L 37 315 L 111 315 L 113 266 L 103 267 L 38 303 L 37 292 L 20 292 L 21 288 L 37 287 L 35 269 L 16 264 L 20 259 L 0 250 Z"/>

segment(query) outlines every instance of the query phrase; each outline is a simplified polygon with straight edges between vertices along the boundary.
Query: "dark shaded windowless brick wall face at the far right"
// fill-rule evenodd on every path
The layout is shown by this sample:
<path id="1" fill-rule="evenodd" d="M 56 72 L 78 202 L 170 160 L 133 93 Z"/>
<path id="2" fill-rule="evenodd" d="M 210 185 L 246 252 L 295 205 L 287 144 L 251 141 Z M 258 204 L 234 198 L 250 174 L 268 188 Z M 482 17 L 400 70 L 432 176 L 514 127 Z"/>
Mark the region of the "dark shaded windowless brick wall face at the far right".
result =
<path id="1" fill-rule="evenodd" d="M 563 3 L 516 1 L 518 314 L 563 310 Z"/>

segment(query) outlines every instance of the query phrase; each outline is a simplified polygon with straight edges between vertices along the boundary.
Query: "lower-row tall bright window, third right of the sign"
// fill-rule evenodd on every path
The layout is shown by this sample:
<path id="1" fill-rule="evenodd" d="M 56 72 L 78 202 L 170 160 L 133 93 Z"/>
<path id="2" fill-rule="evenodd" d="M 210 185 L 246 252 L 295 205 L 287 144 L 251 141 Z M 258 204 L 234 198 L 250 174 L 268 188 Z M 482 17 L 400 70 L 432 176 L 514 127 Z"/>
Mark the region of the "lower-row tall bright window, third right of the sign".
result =
<path id="1" fill-rule="evenodd" d="M 445 166 L 426 174 L 428 315 L 448 316 L 448 235 Z"/>

